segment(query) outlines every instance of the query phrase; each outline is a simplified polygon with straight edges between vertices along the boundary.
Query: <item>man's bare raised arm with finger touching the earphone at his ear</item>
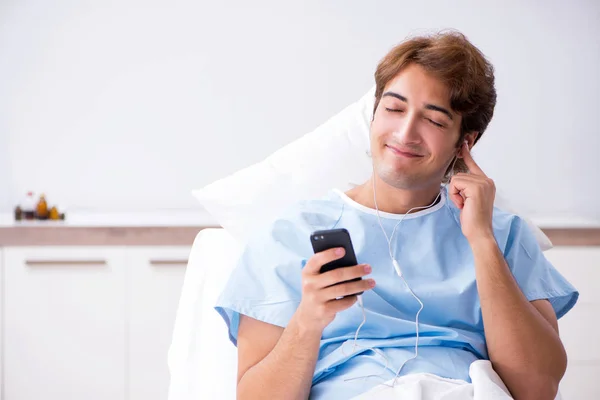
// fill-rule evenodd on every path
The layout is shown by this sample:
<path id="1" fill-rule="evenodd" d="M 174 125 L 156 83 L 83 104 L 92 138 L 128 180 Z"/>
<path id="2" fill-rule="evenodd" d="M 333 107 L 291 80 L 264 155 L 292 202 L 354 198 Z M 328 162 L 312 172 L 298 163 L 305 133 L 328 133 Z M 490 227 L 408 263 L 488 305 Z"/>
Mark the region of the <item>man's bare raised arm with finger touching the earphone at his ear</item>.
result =
<path id="1" fill-rule="evenodd" d="M 556 315 L 547 300 L 527 300 L 498 248 L 492 224 L 496 187 L 471 157 L 473 140 L 471 132 L 460 152 L 469 174 L 453 176 L 449 193 L 475 258 L 490 359 L 515 399 L 554 400 L 567 363 Z"/>

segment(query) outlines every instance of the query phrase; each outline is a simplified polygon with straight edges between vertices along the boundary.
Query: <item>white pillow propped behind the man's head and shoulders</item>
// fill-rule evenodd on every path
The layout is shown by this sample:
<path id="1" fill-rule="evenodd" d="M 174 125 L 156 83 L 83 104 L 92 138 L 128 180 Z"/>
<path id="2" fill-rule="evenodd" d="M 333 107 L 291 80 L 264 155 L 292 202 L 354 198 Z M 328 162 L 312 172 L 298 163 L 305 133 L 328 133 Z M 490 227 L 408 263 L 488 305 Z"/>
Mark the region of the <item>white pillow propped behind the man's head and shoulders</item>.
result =
<path id="1" fill-rule="evenodd" d="M 346 191 L 369 179 L 374 104 L 372 87 L 357 102 L 265 160 L 192 193 L 223 228 L 244 243 L 257 226 L 272 221 L 294 202 L 321 197 L 332 188 Z M 514 212 L 498 192 L 495 205 Z M 529 219 L 524 220 L 542 249 L 552 248 L 550 239 Z"/>

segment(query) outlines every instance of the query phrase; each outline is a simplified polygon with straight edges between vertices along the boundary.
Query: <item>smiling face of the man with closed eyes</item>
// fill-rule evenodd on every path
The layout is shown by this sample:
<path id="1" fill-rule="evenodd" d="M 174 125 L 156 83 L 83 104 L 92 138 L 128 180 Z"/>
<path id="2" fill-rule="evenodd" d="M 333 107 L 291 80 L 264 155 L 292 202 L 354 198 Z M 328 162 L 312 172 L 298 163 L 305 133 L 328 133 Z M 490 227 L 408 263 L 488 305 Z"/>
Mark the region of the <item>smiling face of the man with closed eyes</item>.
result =
<path id="1" fill-rule="evenodd" d="M 448 88 L 421 66 L 406 66 L 384 88 L 371 123 L 375 173 L 399 189 L 439 185 L 457 153 L 460 125 Z"/>

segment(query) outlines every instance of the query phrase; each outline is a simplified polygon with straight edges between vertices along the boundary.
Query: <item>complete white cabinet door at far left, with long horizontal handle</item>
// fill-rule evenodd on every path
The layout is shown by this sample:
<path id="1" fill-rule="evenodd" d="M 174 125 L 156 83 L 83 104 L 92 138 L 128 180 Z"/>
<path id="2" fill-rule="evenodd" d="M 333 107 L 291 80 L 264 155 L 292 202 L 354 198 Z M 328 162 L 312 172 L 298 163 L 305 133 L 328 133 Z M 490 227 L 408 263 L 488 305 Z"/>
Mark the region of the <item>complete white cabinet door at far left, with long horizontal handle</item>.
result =
<path id="1" fill-rule="evenodd" d="M 125 399 L 123 250 L 4 249 L 4 400 Z"/>

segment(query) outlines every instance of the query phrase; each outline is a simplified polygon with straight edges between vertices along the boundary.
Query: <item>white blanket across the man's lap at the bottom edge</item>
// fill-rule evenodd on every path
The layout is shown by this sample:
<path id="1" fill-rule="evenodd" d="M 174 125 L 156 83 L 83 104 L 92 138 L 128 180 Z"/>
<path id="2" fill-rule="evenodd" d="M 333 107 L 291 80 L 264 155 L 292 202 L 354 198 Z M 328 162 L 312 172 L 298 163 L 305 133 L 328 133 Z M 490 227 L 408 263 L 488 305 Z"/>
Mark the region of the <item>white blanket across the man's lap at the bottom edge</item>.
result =
<path id="1" fill-rule="evenodd" d="M 375 386 L 354 400 L 508 400 L 510 392 L 487 360 L 475 361 L 469 368 L 472 383 L 420 373 L 400 377 Z"/>

